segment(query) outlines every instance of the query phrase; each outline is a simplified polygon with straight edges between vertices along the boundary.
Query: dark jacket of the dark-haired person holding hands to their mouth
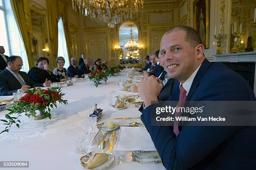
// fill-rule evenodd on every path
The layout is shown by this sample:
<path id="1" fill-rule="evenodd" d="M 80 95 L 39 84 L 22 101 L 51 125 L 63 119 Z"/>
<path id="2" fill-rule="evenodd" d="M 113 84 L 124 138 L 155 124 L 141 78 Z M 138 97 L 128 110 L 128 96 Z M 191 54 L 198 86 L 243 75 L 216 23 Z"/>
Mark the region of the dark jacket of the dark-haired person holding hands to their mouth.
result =
<path id="1" fill-rule="evenodd" d="M 46 78 L 51 82 L 59 82 L 59 79 L 50 71 L 42 70 L 38 67 L 32 67 L 28 71 L 29 77 L 36 83 L 44 83 Z"/>

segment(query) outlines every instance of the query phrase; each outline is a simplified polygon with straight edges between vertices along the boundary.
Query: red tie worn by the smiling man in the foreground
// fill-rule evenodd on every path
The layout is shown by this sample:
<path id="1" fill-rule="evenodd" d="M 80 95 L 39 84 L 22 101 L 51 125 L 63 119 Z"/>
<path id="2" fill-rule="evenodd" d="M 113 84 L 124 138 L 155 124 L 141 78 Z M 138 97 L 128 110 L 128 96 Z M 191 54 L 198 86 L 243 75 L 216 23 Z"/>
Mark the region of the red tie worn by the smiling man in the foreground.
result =
<path id="1" fill-rule="evenodd" d="M 177 104 L 177 107 L 183 107 L 186 101 L 186 95 L 187 91 L 184 89 L 182 85 L 180 85 L 180 93 L 179 93 L 179 102 Z M 175 117 L 180 117 L 182 112 L 175 112 Z M 174 125 L 173 125 L 173 132 L 175 135 L 179 135 L 179 121 L 176 121 L 174 117 Z"/>

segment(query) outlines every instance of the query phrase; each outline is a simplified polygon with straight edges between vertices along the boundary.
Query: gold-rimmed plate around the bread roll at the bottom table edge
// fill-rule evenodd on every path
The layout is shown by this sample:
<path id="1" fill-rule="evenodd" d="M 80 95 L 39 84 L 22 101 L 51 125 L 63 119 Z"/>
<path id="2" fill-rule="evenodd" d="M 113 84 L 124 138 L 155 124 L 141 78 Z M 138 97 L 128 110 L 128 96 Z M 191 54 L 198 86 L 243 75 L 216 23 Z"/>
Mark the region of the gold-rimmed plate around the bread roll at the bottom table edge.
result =
<path id="1" fill-rule="evenodd" d="M 108 160 L 100 166 L 89 169 L 88 167 L 89 167 L 90 163 L 92 162 L 94 155 L 96 153 L 108 154 Z M 80 158 L 80 163 L 81 163 L 81 166 L 86 170 L 103 170 L 103 169 L 109 167 L 114 162 L 114 160 L 115 160 L 115 155 L 112 152 L 110 152 L 109 150 L 93 150 L 92 152 L 87 153 L 86 155 L 82 156 Z"/>

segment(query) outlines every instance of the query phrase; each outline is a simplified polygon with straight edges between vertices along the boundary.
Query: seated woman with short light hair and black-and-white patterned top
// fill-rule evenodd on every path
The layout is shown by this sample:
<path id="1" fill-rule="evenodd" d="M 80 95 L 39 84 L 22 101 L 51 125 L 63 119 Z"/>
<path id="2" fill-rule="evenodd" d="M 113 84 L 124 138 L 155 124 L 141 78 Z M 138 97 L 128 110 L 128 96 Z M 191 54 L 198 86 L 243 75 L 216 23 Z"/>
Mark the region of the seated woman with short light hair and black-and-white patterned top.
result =
<path id="1" fill-rule="evenodd" d="M 56 75 L 60 81 L 70 80 L 71 77 L 68 77 L 67 69 L 64 68 L 65 59 L 63 57 L 57 57 L 56 62 L 58 67 L 54 68 L 53 74 Z"/>

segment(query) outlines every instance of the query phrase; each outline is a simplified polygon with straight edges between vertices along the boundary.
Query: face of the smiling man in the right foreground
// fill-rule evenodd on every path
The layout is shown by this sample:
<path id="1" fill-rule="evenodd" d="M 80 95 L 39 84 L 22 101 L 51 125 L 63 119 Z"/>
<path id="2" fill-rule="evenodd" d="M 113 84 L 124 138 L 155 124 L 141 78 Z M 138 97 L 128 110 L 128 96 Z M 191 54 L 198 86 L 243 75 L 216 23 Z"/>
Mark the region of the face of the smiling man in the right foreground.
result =
<path id="1" fill-rule="evenodd" d="M 197 59 L 197 46 L 185 40 L 186 32 L 177 30 L 161 39 L 159 58 L 171 78 L 183 83 L 201 64 Z"/>

